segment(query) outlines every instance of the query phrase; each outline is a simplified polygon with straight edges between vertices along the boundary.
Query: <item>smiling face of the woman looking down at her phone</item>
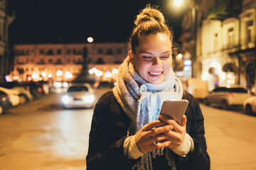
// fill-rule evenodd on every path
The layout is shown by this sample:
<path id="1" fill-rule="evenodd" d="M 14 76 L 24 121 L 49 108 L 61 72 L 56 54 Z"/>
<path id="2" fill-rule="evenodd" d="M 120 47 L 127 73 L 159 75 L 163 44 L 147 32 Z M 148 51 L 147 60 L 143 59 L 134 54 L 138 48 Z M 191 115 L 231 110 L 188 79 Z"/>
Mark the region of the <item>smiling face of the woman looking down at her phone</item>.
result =
<path id="1" fill-rule="evenodd" d="M 129 57 L 139 75 L 151 84 L 161 84 L 171 69 L 171 40 L 169 35 L 143 35 L 135 54 Z"/>

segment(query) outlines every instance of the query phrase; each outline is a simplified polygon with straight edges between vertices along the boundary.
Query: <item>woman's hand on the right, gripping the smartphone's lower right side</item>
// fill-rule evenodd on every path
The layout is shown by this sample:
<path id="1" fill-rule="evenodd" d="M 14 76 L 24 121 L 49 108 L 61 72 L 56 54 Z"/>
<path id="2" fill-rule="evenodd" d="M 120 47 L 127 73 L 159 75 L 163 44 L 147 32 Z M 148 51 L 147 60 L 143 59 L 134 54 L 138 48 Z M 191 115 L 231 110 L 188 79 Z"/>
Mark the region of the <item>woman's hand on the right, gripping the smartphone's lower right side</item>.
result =
<path id="1" fill-rule="evenodd" d="M 174 128 L 168 132 L 164 132 L 168 137 L 166 140 L 171 142 L 168 147 L 169 149 L 176 149 L 183 142 L 186 134 L 186 115 L 183 115 L 181 125 L 178 125 L 175 120 L 172 120 L 165 115 L 159 115 L 159 120 L 163 121 L 168 125 L 172 125 Z"/>

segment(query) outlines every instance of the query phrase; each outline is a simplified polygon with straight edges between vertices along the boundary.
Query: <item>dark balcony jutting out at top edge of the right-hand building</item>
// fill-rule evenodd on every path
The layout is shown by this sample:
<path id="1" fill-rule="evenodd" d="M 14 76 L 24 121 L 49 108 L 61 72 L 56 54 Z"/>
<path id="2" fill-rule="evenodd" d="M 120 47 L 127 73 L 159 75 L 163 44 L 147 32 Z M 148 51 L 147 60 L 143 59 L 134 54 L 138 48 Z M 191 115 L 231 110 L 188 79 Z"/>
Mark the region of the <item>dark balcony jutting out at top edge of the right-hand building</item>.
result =
<path id="1" fill-rule="evenodd" d="M 241 6 L 240 0 L 219 1 L 208 11 L 208 19 L 224 21 L 226 18 L 238 17 Z"/>

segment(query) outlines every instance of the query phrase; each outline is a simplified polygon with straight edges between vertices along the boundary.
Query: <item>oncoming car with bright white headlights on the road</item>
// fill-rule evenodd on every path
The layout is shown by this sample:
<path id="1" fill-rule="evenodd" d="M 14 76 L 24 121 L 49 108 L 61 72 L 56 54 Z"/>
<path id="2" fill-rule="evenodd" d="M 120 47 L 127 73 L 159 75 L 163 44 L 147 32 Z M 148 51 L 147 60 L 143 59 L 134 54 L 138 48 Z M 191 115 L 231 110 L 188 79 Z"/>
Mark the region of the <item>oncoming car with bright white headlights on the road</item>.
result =
<path id="1" fill-rule="evenodd" d="M 92 108 L 95 94 L 90 84 L 70 84 L 61 101 L 63 108 Z"/>

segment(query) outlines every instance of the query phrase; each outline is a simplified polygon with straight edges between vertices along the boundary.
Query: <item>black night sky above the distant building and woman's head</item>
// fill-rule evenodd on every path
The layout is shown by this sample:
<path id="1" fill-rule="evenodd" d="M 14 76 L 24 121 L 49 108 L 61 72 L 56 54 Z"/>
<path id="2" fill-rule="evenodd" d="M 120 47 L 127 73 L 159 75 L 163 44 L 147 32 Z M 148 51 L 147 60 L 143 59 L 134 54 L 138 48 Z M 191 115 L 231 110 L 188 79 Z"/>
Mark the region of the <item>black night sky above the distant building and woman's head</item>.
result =
<path id="1" fill-rule="evenodd" d="M 75 43 L 127 42 L 133 21 L 146 4 L 159 6 L 176 42 L 181 34 L 182 11 L 173 11 L 171 0 L 8 0 L 9 15 L 16 19 L 9 26 L 9 42 Z"/>

